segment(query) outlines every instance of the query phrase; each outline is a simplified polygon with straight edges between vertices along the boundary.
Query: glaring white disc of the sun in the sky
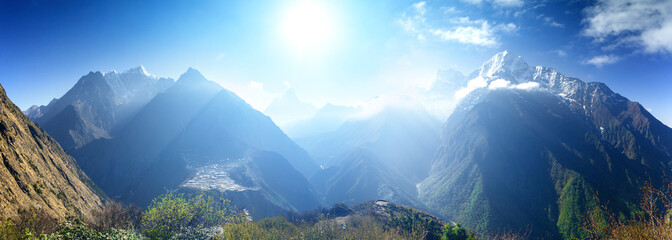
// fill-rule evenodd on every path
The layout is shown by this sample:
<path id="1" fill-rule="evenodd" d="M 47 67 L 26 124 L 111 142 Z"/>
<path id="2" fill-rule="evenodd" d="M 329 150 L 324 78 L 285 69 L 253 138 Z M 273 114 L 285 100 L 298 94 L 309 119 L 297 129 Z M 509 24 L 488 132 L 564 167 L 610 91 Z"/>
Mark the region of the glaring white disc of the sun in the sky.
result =
<path id="1" fill-rule="evenodd" d="M 334 30 L 326 9 L 308 1 L 287 13 L 283 27 L 287 39 L 299 52 L 325 47 Z"/>

